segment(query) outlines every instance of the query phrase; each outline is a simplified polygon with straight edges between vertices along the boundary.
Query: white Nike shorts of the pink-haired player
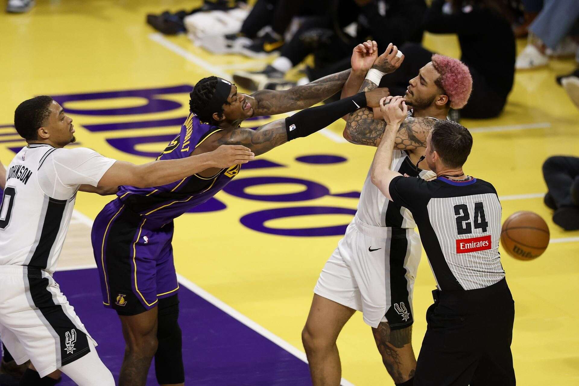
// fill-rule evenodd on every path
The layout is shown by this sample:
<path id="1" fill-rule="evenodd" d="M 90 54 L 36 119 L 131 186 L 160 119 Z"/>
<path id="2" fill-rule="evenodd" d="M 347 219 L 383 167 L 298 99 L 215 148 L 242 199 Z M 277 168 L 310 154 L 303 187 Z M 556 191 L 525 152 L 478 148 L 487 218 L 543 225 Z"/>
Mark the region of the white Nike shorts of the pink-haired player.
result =
<path id="1" fill-rule="evenodd" d="M 414 322 L 412 291 L 422 248 L 414 229 L 377 227 L 354 217 L 330 256 L 314 293 L 354 310 L 377 328 Z"/>

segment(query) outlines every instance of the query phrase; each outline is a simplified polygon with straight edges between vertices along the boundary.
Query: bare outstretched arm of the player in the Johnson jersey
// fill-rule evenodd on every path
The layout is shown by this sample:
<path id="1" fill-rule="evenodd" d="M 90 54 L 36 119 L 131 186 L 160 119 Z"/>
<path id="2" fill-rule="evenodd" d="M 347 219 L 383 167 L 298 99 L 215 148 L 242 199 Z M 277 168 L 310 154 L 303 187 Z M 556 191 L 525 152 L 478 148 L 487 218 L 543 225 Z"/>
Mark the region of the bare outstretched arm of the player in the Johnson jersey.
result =
<path id="1" fill-rule="evenodd" d="M 227 168 L 247 163 L 254 158 L 254 153 L 250 149 L 233 145 L 219 146 L 212 152 L 178 160 L 152 161 L 142 165 L 116 161 L 102 176 L 97 188 L 107 189 L 109 186 L 119 185 L 151 188 L 179 181 L 207 168 Z"/>

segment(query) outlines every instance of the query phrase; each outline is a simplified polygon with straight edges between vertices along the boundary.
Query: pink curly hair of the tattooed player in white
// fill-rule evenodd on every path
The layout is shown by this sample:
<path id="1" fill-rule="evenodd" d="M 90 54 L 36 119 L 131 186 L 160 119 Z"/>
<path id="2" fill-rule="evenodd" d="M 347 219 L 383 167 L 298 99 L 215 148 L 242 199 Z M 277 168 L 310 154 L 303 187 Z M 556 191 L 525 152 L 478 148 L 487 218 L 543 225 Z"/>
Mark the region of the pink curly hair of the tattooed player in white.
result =
<path id="1" fill-rule="evenodd" d="M 434 69 L 440 74 L 436 83 L 450 100 L 450 107 L 461 109 L 467 104 L 472 91 L 472 78 L 468 67 L 460 60 L 434 54 Z"/>

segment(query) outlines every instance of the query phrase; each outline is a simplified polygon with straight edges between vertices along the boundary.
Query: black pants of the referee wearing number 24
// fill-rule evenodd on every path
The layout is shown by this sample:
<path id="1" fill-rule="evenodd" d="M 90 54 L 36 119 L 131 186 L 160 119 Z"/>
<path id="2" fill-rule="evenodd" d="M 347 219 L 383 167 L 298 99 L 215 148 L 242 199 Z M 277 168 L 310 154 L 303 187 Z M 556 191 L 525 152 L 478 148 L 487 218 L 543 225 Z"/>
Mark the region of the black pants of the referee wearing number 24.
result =
<path id="1" fill-rule="evenodd" d="M 470 291 L 433 291 L 414 386 L 515 385 L 515 303 L 505 279 Z"/>

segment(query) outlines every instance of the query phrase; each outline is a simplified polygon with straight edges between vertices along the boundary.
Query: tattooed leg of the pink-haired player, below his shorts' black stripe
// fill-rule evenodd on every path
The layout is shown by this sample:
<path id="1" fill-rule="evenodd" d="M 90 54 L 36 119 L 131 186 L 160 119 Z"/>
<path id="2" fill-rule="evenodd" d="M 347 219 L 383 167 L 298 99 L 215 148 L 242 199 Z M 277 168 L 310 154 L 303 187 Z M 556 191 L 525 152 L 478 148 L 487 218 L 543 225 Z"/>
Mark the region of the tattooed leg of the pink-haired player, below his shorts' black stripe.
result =
<path id="1" fill-rule="evenodd" d="M 402 383 L 405 377 L 402 374 L 402 358 L 398 350 L 412 341 L 412 326 L 400 330 L 391 330 L 387 322 L 382 322 L 378 328 L 372 328 L 376 347 L 386 370 L 395 383 Z M 408 378 L 414 376 L 414 369 L 411 370 Z"/>

